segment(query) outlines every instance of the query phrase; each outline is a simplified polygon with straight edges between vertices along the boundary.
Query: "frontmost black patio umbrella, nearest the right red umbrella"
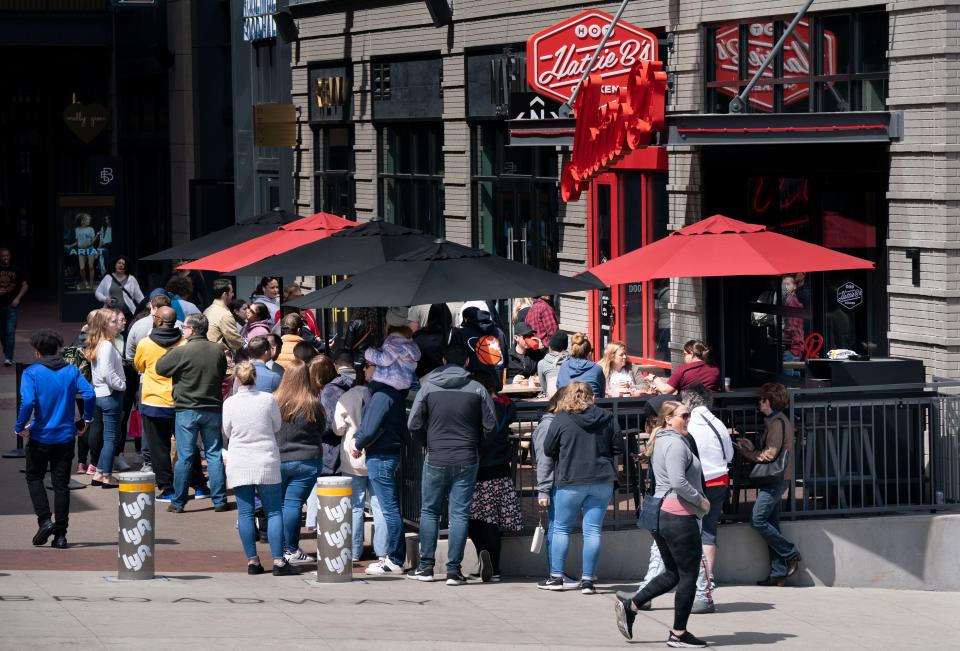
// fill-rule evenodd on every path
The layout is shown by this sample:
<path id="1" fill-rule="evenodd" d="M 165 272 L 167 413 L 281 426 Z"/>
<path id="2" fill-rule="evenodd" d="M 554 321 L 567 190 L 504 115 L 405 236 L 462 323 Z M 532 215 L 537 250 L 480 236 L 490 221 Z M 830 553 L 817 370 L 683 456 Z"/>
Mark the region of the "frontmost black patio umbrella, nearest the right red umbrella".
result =
<path id="1" fill-rule="evenodd" d="M 561 276 L 485 251 L 435 240 L 288 305 L 299 308 L 423 305 L 584 292 L 602 287 L 599 281 Z"/>

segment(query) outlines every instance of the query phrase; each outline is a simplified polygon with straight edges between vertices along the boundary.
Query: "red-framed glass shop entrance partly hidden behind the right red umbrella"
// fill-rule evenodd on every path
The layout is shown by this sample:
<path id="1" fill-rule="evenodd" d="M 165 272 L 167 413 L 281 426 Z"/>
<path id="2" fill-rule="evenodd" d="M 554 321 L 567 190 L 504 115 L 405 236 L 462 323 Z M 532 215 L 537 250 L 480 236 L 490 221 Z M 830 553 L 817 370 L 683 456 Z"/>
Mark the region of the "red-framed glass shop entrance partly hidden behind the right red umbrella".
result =
<path id="1" fill-rule="evenodd" d="M 662 147 L 639 150 L 590 186 L 588 211 L 594 266 L 667 235 L 667 156 Z M 670 281 L 617 285 L 593 293 L 594 346 L 626 344 L 637 363 L 669 366 Z"/>

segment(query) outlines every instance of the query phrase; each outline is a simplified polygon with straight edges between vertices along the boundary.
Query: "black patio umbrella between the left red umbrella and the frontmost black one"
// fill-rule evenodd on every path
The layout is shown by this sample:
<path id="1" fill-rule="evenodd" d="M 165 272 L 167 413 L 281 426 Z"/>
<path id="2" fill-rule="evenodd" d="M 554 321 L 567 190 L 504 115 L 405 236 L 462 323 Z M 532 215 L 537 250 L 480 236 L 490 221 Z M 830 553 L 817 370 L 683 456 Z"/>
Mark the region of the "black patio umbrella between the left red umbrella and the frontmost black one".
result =
<path id="1" fill-rule="evenodd" d="M 238 276 L 339 276 L 366 271 L 433 241 L 382 217 L 233 271 Z"/>

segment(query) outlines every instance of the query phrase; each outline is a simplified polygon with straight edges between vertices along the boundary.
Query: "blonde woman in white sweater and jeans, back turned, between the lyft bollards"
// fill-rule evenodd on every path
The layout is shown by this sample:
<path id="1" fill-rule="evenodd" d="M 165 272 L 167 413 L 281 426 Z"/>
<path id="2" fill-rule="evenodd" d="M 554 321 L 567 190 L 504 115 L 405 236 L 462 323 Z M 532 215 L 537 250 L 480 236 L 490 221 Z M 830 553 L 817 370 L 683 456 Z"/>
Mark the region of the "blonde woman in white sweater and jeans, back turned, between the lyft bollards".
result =
<path id="1" fill-rule="evenodd" d="M 280 407 L 273 395 L 257 391 L 257 371 L 250 362 L 234 370 L 239 388 L 223 403 L 223 460 L 227 469 L 227 488 L 237 498 L 237 529 L 247 555 L 247 574 L 263 574 L 257 555 L 254 528 L 254 500 L 267 514 L 267 536 L 273 556 L 273 575 L 290 576 L 300 570 L 283 558 L 283 515 L 280 489 Z"/>

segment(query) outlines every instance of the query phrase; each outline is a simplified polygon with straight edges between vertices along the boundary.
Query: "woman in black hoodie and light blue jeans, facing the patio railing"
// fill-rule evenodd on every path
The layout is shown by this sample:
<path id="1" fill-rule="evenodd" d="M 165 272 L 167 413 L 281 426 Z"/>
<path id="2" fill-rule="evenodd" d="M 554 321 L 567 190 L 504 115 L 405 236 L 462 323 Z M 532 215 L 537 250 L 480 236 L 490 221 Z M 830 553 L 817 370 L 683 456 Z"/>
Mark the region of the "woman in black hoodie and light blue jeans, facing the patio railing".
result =
<path id="1" fill-rule="evenodd" d="M 594 570 L 600 557 L 600 530 L 617 480 L 615 457 L 623 452 L 617 421 L 593 404 L 593 389 L 585 382 L 571 383 L 543 441 L 554 469 L 554 521 L 550 541 L 550 576 L 537 587 L 563 590 L 563 564 L 570 531 L 583 513 L 583 578 L 580 591 L 595 594 Z M 539 499 L 541 506 L 550 498 Z"/>

